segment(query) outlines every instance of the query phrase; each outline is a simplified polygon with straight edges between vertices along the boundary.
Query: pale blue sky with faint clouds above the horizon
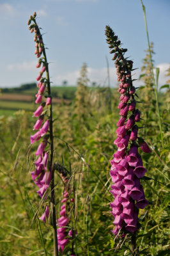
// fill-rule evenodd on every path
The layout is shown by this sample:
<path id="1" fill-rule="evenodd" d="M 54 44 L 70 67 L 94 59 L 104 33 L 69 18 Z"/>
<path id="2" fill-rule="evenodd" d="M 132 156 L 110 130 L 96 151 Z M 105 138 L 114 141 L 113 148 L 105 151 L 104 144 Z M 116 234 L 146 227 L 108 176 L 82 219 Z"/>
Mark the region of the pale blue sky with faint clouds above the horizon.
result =
<path id="1" fill-rule="evenodd" d="M 160 67 L 160 84 L 164 84 L 164 72 L 170 62 L 170 1 L 143 0 L 143 3 L 150 41 L 154 42 L 155 66 Z M 59 85 L 65 79 L 68 84 L 75 84 L 84 62 L 91 82 L 104 84 L 107 56 L 111 85 L 115 86 L 114 62 L 105 42 L 107 24 L 128 49 L 127 56 L 134 61 L 134 68 L 139 68 L 135 76 L 139 76 L 147 49 L 140 0 L 1 0 L 1 87 L 19 86 L 36 79 L 35 43 L 27 28 L 29 15 L 34 11 L 49 48 L 47 58 L 54 84 Z"/>

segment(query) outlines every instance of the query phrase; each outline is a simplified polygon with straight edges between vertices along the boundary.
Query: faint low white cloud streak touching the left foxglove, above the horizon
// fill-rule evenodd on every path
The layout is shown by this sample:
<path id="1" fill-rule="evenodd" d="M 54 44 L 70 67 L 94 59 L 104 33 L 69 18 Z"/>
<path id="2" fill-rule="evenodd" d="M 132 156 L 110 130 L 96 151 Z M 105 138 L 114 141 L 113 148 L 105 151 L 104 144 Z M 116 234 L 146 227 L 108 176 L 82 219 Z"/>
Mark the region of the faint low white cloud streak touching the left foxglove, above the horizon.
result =
<path id="1" fill-rule="evenodd" d="M 23 61 L 22 63 L 9 64 L 8 70 L 19 70 L 19 71 L 33 71 L 36 69 L 36 61 Z"/>

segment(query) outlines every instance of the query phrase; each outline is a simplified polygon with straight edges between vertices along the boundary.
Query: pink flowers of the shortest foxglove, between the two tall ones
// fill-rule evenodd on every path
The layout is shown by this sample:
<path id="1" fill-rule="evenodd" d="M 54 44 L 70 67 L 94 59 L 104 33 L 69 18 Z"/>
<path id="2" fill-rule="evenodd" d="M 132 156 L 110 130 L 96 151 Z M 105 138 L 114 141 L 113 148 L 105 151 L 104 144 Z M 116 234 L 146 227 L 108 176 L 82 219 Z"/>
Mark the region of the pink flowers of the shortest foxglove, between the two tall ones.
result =
<path id="1" fill-rule="evenodd" d="M 70 222 L 70 218 L 68 217 L 68 212 L 70 211 L 70 185 L 68 184 L 68 179 L 65 176 L 65 173 L 61 173 L 61 179 L 65 184 L 65 189 L 63 192 L 63 199 L 61 200 L 61 211 L 59 212 L 60 218 L 57 221 L 58 227 L 58 251 L 62 251 L 65 249 L 66 244 L 68 244 L 69 237 L 72 237 L 72 232 L 68 230 L 68 223 Z M 71 200 L 72 202 L 72 200 Z"/>

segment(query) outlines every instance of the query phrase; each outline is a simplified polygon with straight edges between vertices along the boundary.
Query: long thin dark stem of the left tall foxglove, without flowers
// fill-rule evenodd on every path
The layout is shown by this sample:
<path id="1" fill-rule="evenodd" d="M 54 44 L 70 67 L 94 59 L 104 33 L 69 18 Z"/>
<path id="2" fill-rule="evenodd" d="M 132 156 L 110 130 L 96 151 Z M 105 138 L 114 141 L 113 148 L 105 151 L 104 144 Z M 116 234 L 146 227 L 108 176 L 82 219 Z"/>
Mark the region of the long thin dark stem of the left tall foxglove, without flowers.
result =
<path id="1" fill-rule="evenodd" d="M 36 24 L 36 20 L 35 20 Z M 54 168 L 53 168 L 53 156 L 54 156 L 54 136 L 52 131 L 52 97 L 50 92 L 50 76 L 49 76 L 49 63 L 47 62 L 47 56 L 45 52 L 45 47 L 43 47 L 43 58 L 46 67 L 46 80 L 47 80 L 47 90 L 49 97 L 51 98 L 51 104 L 49 105 L 49 132 L 50 132 L 50 163 L 49 172 L 51 172 L 51 182 L 50 182 L 50 205 L 52 211 L 52 227 L 53 227 L 53 239 L 54 239 L 54 256 L 58 256 L 58 232 L 56 225 L 56 208 L 55 208 L 55 193 L 54 193 Z"/>

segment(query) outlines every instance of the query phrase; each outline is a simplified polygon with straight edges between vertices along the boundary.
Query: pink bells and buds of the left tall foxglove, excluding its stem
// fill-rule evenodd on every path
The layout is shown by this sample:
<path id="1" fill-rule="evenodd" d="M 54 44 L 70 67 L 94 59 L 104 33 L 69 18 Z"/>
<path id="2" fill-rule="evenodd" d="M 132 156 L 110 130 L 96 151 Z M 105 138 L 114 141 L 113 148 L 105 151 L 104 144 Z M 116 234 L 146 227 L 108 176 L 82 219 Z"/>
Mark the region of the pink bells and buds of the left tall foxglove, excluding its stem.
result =
<path id="1" fill-rule="evenodd" d="M 35 54 L 37 58 L 39 58 L 42 55 L 44 46 L 43 46 L 43 40 L 42 35 L 40 33 L 40 29 L 38 28 L 38 25 L 36 24 L 36 13 L 33 14 L 33 16 L 30 16 L 28 25 L 29 30 L 31 33 L 35 33 L 34 41 L 35 41 Z M 48 161 L 49 161 L 49 152 L 47 151 L 47 143 L 49 135 L 47 134 L 49 132 L 49 118 L 45 118 L 45 115 L 43 115 L 43 109 L 48 104 L 49 100 L 47 102 L 42 102 L 43 100 L 43 93 L 45 92 L 46 88 L 46 78 L 42 77 L 43 73 L 46 71 L 47 63 L 45 63 L 45 58 L 42 57 L 38 59 L 38 63 L 36 65 L 37 68 L 42 66 L 42 70 L 40 71 L 40 74 L 38 77 L 36 77 L 36 80 L 39 81 L 37 84 L 38 87 L 38 93 L 36 94 L 36 104 L 40 104 L 38 108 L 36 109 L 34 113 L 34 117 L 38 118 L 35 122 L 35 125 L 33 127 L 33 130 L 36 130 L 35 134 L 30 136 L 31 144 L 36 143 L 36 141 L 40 141 L 40 144 L 37 147 L 35 156 L 35 168 L 31 172 L 31 176 L 33 181 L 35 182 L 36 186 L 38 186 L 37 193 L 38 195 L 43 199 L 47 198 L 47 189 L 49 189 L 50 182 L 51 182 L 51 176 L 52 173 L 48 170 Z M 47 98 L 48 99 L 48 98 Z M 42 102 L 42 103 L 41 103 Z M 50 101 L 51 104 L 51 101 Z M 49 207 L 45 207 L 45 212 L 40 217 L 40 220 L 43 222 L 46 222 L 47 218 L 49 218 Z"/>

